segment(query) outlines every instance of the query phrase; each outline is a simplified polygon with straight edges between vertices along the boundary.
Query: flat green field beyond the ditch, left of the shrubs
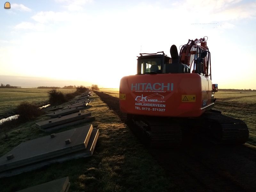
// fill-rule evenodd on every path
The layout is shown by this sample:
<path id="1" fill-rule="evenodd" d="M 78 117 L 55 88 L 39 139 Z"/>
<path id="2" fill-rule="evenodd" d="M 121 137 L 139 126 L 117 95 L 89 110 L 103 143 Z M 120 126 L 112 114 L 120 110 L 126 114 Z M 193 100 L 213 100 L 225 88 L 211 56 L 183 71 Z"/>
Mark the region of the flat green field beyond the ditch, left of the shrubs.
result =
<path id="1" fill-rule="evenodd" d="M 24 101 L 48 104 L 48 91 L 51 89 L 15 88 L 0 89 L 0 119 L 15 115 L 15 108 Z M 75 90 L 60 89 L 63 93 Z"/>

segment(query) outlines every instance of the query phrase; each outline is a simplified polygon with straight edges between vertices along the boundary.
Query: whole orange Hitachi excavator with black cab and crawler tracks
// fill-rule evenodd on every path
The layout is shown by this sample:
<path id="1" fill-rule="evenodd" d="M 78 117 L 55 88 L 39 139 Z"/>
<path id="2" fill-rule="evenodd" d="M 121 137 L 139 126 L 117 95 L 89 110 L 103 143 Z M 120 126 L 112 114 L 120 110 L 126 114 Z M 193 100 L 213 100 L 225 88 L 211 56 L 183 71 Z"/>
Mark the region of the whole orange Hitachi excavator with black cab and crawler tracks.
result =
<path id="1" fill-rule="evenodd" d="M 182 141 L 183 130 L 200 130 L 220 143 L 243 144 L 249 137 L 239 119 L 213 110 L 211 54 L 206 37 L 188 40 L 171 57 L 164 52 L 140 53 L 137 74 L 120 81 L 120 110 L 147 135 L 151 146 Z"/>

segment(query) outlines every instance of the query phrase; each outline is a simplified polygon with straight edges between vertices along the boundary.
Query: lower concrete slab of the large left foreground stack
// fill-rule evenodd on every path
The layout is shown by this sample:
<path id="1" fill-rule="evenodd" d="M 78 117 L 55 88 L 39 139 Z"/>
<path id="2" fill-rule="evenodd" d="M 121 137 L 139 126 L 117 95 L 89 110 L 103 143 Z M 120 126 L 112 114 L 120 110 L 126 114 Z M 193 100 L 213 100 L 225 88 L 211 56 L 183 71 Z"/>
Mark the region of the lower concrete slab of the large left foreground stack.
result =
<path id="1" fill-rule="evenodd" d="M 92 134 L 91 134 L 91 137 L 90 137 L 90 140 L 88 142 L 88 145 L 87 145 L 86 149 L 83 149 L 83 150 L 77 151 L 77 152 L 73 152 L 73 153 L 70 153 L 70 154 L 66 154 L 66 155 L 63 155 L 63 156 L 51 158 L 51 159 L 48 159 L 48 160 L 36 162 L 36 163 L 33 163 L 33 164 L 28 164 L 28 165 L 18 167 L 18 168 L 15 168 L 15 169 L 11 169 L 11 170 L 7 170 L 7 171 L 4 171 L 4 172 L 0 172 L 0 178 L 10 177 L 10 176 L 17 175 L 17 174 L 20 174 L 20 173 L 23 173 L 23 172 L 29 172 L 29 171 L 39 169 L 39 168 L 42 168 L 46 165 L 50 165 L 50 164 L 57 163 L 57 162 L 62 163 L 62 162 L 72 160 L 72 159 L 92 156 L 94 148 L 95 148 L 97 140 L 98 140 L 98 137 L 99 137 L 99 133 L 100 132 L 99 132 L 98 129 L 93 129 L 92 130 Z"/>

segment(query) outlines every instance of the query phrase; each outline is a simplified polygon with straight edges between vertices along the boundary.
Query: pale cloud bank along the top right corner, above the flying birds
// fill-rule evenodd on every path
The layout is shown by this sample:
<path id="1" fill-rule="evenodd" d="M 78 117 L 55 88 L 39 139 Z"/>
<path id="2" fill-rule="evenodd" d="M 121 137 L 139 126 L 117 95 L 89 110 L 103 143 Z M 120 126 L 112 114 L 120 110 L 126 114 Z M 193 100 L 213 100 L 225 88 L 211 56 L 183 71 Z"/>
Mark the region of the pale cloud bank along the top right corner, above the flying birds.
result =
<path id="1" fill-rule="evenodd" d="M 255 2 L 241 0 L 186 0 L 172 3 L 165 12 L 179 15 L 180 22 L 211 23 L 252 19 L 255 9 Z"/>

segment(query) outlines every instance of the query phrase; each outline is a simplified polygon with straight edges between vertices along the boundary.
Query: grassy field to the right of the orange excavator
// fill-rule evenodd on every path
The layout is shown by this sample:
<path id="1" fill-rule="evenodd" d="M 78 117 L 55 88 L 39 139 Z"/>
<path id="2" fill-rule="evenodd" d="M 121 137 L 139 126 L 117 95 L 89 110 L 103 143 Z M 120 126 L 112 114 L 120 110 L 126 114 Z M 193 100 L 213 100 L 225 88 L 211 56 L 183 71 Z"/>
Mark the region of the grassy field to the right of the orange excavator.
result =
<path id="1" fill-rule="evenodd" d="M 256 92 L 217 92 L 215 109 L 243 120 L 249 128 L 247 143 L 256 146 Z"/>

